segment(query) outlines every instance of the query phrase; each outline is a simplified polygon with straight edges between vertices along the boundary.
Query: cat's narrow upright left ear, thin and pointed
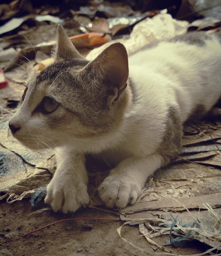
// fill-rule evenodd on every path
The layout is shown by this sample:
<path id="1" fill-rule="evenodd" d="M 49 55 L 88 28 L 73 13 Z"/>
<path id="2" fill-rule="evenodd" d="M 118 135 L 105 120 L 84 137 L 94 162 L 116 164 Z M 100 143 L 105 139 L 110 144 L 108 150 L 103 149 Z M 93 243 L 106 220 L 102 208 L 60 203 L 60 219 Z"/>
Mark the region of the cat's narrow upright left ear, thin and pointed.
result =
<path id="1" fill-rule="evenodd" d="M 57 26 L 57 46 L 54 53 L 55 61 L 57 60 L 72 60 L 83 59 L 80 53 L 73 46 L 65 29 L 61 24 Z"/>

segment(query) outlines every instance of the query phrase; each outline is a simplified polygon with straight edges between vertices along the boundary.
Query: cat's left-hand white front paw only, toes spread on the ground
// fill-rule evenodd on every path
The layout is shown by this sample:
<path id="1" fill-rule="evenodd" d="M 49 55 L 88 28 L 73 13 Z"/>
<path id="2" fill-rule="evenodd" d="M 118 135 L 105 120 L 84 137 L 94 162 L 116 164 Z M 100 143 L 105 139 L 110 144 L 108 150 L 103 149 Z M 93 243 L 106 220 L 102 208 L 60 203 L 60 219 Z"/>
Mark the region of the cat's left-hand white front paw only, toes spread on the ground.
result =
<path id="1" fill-rule="evenodd" d="M 87 185 L 70 177 L 53 177 L 47 186 L 45 203 L 51 205 L 55 213 L 75 212 L 89 204 Z"/>

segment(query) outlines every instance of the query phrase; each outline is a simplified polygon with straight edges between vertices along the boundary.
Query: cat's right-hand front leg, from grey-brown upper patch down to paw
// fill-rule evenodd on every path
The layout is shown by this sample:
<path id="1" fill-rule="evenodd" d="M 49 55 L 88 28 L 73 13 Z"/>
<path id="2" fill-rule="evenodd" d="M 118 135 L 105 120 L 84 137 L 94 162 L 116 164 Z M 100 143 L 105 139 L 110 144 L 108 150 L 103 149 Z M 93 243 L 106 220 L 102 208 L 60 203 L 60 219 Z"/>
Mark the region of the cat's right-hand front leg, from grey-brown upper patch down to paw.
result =
<path id="1" fill-rule="evenodd" d="M 146 157 L 126 158 L 110 171 L 99 186 L 99 195 L 108 207 L 123 208 L 134 204 L 147 178 L 156 169 L 168 165 L 181 149 L 182 123 L 179 108 L 171 106 L 162 141 L 155 153 Z"/>

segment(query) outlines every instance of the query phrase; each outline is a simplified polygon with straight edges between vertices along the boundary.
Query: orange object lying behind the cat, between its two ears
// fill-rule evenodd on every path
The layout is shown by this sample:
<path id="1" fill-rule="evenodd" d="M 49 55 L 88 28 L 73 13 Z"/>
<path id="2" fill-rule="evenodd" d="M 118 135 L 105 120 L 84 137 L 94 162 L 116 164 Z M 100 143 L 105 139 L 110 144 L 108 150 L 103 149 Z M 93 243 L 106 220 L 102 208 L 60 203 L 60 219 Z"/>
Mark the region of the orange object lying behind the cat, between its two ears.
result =
<path id="1" fill-rule="evenodd" d="M 89 32 L 69 37 L 75 47 L 97 47 L 109 41 L 103 33 Z"/>

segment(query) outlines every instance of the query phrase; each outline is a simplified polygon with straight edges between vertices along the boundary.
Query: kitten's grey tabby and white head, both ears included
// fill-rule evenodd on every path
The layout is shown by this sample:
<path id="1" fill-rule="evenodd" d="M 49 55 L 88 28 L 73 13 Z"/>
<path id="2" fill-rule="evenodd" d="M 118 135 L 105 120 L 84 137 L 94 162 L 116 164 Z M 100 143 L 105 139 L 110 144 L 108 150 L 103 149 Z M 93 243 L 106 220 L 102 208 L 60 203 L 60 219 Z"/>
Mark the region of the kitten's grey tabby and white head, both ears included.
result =
<path id="1" fill-rule="evenodd" d="M 29 78 L 9 120 L 14 137 L 38 149 L 113 134 L 128 103 L 125 47 L 114 43 L 88 62 L 58 25 L 54 60 Z"/>

